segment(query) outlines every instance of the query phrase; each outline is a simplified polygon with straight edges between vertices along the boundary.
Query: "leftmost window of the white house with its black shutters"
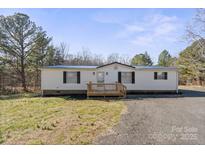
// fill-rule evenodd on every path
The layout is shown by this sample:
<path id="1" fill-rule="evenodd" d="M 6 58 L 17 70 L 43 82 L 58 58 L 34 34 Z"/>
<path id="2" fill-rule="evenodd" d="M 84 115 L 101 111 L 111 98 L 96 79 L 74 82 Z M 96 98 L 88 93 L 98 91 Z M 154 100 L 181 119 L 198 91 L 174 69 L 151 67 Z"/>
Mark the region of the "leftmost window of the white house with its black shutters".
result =
<path id="1" fill-rule="evenodd" d="M 80 83 L 80 72 L 63 72 L 63 83 Z"/>

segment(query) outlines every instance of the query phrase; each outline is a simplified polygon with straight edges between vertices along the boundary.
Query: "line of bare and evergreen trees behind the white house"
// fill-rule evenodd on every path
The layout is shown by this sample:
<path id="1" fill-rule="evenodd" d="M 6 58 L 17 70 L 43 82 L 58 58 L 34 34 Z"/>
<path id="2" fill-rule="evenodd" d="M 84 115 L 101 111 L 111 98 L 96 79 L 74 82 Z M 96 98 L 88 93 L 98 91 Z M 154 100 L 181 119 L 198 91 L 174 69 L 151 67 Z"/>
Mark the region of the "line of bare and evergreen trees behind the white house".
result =
<path id="1" fill-rule="evenodd" d="M 177 67 L 182 84 L 204 84 L 204 9 L 197 11 L 193 24 L 196 23 L 197 26 L 187 26 L 187 40 L 192 44 L 181 51 L 178 57 L 172 57 L 168 50 L 163 50 L 156 64 Z M 31 87 L 34 90 L 39 89 L 40 68 L 48 65 L 102 65 L 114 61 L 132 65 L 153 65 L 148 52 L 136 54 L 132 58 L 118 53 L 103 58 L 102 55 L 92 54 L 86 48 L 71 54 L 65 43 L 55 46 L 52 40 L 53 38 L 26 14 L 0 16 L 0 93 L 7 89 L 16 90 L 16 87 L 24 91 Z"/>

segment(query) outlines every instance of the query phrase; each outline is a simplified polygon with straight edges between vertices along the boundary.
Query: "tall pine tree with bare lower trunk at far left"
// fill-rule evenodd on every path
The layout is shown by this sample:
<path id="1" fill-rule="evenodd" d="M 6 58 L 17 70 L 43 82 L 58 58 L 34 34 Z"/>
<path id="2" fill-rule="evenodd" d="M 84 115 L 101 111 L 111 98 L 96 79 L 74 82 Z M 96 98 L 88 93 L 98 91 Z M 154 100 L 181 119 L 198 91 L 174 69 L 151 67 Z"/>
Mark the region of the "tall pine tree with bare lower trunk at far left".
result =
<path id="1" fill-rule="evenodd" d="M 34 44 L 41 31 L 26 14 L 0 16 L 0 52 L 2 60 L 9 64 L 19 75 L 23 89 L 27 90 L 26 68 L 28 57 L 34 51 Z"/>

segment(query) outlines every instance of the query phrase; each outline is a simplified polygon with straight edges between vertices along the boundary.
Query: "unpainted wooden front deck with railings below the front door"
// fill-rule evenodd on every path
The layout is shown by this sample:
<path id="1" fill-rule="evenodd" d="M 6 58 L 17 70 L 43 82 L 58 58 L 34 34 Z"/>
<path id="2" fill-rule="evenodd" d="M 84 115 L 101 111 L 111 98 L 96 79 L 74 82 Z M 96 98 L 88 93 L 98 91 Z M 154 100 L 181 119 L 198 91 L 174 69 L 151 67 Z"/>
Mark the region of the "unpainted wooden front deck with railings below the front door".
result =
<path id="1" fill-rule="evenodd" d="M 87 97 L 89 96 L 119 96 L 126 97 L 126 86 L 121 83 L 92 83 L 87 84 Z"/>

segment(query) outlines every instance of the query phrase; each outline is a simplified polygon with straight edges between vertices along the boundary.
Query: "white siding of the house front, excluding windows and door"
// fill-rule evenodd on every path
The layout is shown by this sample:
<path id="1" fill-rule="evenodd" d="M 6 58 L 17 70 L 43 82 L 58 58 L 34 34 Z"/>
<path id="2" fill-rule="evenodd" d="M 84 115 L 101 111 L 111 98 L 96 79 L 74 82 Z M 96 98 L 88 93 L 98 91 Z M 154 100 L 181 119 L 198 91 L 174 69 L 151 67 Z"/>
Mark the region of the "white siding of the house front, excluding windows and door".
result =
<path id="1" fill-rule="evenodd" d="M 80 83 L 65 84 L 62 72 L 79 72 Z M 95 73 L 93 73 L 95 72 Z M 42 90 L 87 90 L 89 81 L 97 83 L 97 72 L 104 72 L 104 83 L 118 82 L 118 72 L 135 72 L 135 83 L 123 83 L 127 90 L 177 90 L 178 73 L 176 70 L 164 69 L 132 69 L 126 66 L 109 65 L 98 69 L 42 69 Z M 108 72 L 108 74 L 106 74 Z M 154 80 L 154 72 L 167 72 L 167 80 Z M 130 77 L 131 79 L 131 77 Z"/>

